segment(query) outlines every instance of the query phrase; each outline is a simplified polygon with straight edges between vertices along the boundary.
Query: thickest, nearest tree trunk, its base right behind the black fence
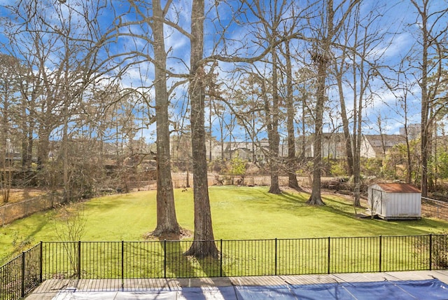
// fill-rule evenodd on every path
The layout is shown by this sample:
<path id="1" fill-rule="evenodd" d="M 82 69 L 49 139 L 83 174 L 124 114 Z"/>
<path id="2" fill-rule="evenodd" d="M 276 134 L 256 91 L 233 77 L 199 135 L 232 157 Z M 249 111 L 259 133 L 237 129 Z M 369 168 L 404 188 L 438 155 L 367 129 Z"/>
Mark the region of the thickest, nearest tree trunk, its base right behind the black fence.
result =
<path id="1" fill-rule="evenodd" d="M 204 52 L 204 0 L 193 0 L 191 10 L 190 96 L 191 143 L 193 148 L 193 195 L 195 206 L 194 240 L 186 255 L 218 257 L 211 224 L 207 181 L 207 150 L 205 141 L 205 83 L 202 55 Z"/>

